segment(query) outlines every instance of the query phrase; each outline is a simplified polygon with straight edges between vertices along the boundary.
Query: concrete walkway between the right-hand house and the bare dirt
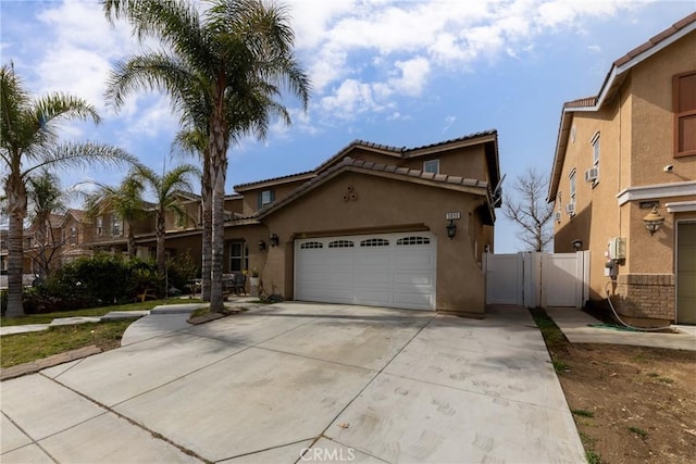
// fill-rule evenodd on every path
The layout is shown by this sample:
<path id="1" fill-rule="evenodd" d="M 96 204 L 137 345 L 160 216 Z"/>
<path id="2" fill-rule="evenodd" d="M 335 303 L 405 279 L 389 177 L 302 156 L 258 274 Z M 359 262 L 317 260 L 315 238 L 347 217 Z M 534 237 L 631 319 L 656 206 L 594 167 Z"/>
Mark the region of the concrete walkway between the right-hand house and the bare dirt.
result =
<path id="1" fill-rule="evenodd" d="M 637 347 L 670 348 L 696 351 L 696 326 L 673 325 L 674 334 L 657 331 L 629 331 L 592 327 L 602 324 L 589 314 L 571 308 L 547 308 L 556 325 L 571 343 L 612 343 Z"/>

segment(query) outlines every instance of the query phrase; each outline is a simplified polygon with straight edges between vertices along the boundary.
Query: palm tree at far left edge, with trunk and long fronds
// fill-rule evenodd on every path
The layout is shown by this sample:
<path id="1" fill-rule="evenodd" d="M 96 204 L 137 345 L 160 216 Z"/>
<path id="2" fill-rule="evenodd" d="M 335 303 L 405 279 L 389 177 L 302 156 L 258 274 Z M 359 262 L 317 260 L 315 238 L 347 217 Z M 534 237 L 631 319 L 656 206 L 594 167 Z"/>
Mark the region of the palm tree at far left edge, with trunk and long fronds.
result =
<path id="1" fill-rule="evenodd" d="M 95 142 L 60 143 L 59 123 L 83 120 L 99 123 L 99 114 L 84 100 L 65 93 L 33 99 L 12 64 L 0 68 L 0 159 L 9 212 L 8 311 L 24 315 L 22 263 L 24 218 L 27 215 L 26 183 L 41 168 L 84 166 L 94 162 L 135 162 L 125 151 Z"/>

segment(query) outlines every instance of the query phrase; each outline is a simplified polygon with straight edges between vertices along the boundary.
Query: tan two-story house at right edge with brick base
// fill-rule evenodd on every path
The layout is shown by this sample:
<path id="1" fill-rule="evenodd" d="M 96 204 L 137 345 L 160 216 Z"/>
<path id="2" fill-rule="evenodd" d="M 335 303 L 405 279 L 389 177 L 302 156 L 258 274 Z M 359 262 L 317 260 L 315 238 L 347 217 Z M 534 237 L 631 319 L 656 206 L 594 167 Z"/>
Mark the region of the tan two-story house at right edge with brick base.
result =
<path id="1" fill-rule="evenodd" d="M 608 289 L 634 324 L 696 324 L 696 13 L 563 105 L 548 200 L 555 251 L 591 250 L 593 302 Z"/>

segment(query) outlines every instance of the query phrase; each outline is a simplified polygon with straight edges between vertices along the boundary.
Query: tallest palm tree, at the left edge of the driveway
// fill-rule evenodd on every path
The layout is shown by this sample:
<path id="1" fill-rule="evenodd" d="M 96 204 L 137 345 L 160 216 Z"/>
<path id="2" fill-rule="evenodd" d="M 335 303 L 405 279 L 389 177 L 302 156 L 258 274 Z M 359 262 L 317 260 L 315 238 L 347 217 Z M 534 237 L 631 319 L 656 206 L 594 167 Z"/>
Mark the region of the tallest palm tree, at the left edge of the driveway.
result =
<path id="1" fill-rule="evenodd" d="M 281 87 L 307 108 L 310 83 L 294 52 L 295 35 L 283 7 L 263 0 L 210 0 L 199 14 L 184 0 L 104 0 L 110 20 L 125 17 L 139 38 L 163 49 L 116 64 L 108 98 L 116 106 L 145 87 L 166 91 L 184 125 L 204 128 L 212 192 L 210 310 L 223 310 L 222 265 L 227 149 L 239 137 L 264 138 L 271 116 L 287 124 Z"/>

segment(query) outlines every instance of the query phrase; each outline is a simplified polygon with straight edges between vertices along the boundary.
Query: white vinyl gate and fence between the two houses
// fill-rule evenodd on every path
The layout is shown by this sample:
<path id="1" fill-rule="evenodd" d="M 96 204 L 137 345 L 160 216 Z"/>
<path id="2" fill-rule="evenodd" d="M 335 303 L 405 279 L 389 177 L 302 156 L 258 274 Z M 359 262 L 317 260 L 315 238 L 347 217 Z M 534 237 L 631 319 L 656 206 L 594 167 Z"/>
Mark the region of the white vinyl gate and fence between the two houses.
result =
<path id="1" fill-rule="evenodd" d="M 582 308 L 589 298 L 589 251 L 492 254 L 486 304 Z"/>

